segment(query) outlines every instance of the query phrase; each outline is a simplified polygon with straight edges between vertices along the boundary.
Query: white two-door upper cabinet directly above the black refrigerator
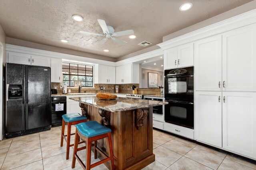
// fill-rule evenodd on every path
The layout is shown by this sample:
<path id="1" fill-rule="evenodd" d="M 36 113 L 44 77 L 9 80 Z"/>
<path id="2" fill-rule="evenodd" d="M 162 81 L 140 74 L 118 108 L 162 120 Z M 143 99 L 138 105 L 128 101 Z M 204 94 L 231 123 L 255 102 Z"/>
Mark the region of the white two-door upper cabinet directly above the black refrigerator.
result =
<path id="1" fill-rule="evenodd" d="M 8 52 L 8 63 L 50 67 L 51 58 L 24 53 Z"/>

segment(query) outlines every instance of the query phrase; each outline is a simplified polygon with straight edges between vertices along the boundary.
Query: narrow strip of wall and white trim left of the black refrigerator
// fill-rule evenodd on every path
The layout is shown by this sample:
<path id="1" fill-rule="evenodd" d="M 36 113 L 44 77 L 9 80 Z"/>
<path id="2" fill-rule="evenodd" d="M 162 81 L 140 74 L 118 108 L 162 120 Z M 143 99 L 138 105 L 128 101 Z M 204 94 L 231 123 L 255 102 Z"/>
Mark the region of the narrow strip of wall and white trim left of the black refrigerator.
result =
<path id="1" fill-rule="evenodd" d="M 3 84 L 3 74 L 5 70 L 5 63 L 6 63 L 6 35 L 4 33 L 4 30 L 2 29 L 0 25 L 0 140 L 2 140 L 3 133 L 4 133 L 4 84 Z"/>

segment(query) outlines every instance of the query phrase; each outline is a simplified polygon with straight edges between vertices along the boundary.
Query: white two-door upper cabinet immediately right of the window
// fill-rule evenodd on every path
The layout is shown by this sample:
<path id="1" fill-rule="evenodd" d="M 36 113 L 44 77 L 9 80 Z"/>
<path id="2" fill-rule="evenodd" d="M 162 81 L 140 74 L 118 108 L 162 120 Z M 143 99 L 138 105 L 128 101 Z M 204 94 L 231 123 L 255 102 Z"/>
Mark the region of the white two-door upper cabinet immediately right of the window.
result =
<path id="1" fill-rule="evenodd" d="M 112 66 L 99 65 L 99 83 L 116 84 L 116 68 Z"/>

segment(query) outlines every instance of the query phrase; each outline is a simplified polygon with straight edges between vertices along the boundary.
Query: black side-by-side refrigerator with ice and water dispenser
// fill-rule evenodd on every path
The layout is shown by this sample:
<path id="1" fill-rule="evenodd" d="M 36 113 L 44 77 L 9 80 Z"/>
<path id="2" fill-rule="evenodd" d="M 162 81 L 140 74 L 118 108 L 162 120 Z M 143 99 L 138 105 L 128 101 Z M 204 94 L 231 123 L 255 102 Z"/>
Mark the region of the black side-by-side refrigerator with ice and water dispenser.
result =
<path id="1" fill-rule="evenodd" d="M 51 128 L 50 67 L 6 63 L 6 137 Z"/>

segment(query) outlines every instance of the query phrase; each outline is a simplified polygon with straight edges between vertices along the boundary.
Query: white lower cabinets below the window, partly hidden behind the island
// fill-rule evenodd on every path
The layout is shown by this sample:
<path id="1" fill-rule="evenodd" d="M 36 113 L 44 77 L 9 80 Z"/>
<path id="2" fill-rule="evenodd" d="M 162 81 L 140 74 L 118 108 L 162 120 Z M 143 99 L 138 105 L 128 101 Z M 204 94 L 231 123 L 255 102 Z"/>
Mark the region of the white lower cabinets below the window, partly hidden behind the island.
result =
<path id="1" fill-rule="evenodd" d="M 96 96 L 96 94 L 88 94 L 88 95 L 70 95 L 67 96 L 67 113 L 80 113 L 82 115 L 81 107 L 79 106 L 79 102 L 71 100 L 69 98 L 74 97 L 92 97 Z"/>

